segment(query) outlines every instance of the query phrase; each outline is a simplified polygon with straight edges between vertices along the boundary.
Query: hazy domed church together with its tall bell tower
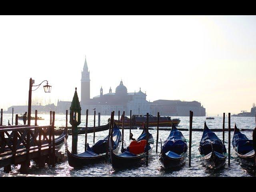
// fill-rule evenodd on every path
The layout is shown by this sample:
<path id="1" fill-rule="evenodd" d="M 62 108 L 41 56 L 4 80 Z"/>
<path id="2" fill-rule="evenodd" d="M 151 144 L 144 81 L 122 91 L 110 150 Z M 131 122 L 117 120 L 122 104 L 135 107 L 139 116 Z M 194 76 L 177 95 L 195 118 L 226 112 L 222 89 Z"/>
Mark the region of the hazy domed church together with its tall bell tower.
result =
<path id="1" fill-rule="evenodd" d="M 81 78 L 81 102 L 82 114 L 85 114 L 85 110 L 88 109 L 89 114 L 94 114 L 94 108 L 96 113 L 100 112 L 102 115 L 109 115 L 112 111 L 115 111 L 115 115 L 125 111 L 125 114 L 129 116 L 130 110 L 132 114 L 145 114 L 150 111 L 149 102 L 146 100 L 146 92 L 143 93 L 141 89 L 136 92 L 127 92 L 126 86 L 124 86 L 121 80 L 116 87 L 115 92 L 112 89 L 108 90 L 106 94 L 103 94 L 103 88 L 100 88 L 100 94 L 90 98 L 90 72 L 88 71 L 88 65 L 84 62 L 84 68 Z"/>

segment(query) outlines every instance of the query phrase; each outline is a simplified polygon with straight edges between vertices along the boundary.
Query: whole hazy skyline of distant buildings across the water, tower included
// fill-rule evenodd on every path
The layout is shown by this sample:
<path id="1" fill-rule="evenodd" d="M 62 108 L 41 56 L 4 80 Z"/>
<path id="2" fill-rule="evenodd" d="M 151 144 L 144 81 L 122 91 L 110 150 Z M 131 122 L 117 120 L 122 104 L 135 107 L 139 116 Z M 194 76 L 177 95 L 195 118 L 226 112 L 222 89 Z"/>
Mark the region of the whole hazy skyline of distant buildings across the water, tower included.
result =
<path id="1" fill-rule="evenodd" d="M 112 111 L 115 111 L 115 115 L 120 115 L 125 111 L 125 115 L 132 114 L 146 114 L 147 112 L 152 115 L 157 115 L 160 112 L 161 116 L 189 116 L 189 111 L 194 112 L 194 116 L 205 116 L 206 110 L 201 106 L 200 102 L 192 101 L 180 101 L 180 100 L 156 100 L 149 102 L 146 100 L 146 92 L 139 91 L 127 92 L 126 86 L 124 86 L 121 80 L 116 87 L 115 92 L 112 92 L 110 86 L 108 93 L 103 94 L 103 88 L 100 88 L 100 94 L 90 98 L 90 71 L 88 71 L 88 65 L 84 62 L 84 68 L 81 77 L 81 96 L 80 105 L 82 108 L 81 114 L 86 114 L 86 109 L 89 110 L 89 114 L 94 114 L 94 108 L 96 113 L 100 112 L 102 115 L 110 115 Z M 56 113 L 65 114 L 66 110 L 69 110 L 71 101 L 59 101 L 57 106 L 50 104 L 47 106 L 32 106 L 32 113 L 34 110 L 38 112 L 50 112 L 50 110 Z M 28 110 L 28 106 L 11 106 L 8 108 L 8 113 L 12 113 L 12 107 L 14 107 L 15 113 L 24 113 Z M 69 112 L 68 112 L 69 113 Z"/>

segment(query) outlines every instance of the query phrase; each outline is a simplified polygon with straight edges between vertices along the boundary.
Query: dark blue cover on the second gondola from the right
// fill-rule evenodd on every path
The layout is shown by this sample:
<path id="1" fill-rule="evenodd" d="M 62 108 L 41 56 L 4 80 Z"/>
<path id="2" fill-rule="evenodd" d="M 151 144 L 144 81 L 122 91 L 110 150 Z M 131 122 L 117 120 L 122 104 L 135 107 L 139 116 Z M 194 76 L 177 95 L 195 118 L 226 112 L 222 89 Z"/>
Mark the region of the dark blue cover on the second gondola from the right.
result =
<path id="1" fill-rule="evenodd" d="M 206 122 L 204 122 L 204 132 L 198 150 L 201 155 L 207 155 L 212 151 L 220 154 L 227 152 L 225 145 L 216 134 L 207 127 Z"/>

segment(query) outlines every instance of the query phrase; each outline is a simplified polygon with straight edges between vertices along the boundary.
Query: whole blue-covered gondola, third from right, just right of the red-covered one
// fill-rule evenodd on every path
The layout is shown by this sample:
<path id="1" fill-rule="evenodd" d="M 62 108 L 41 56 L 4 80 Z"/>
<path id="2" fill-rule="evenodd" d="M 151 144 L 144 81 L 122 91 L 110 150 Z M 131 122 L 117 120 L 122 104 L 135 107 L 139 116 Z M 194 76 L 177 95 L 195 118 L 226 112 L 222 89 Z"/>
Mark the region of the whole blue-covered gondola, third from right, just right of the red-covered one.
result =
<path id="1" fill-rule="evenodd" d="M 173 124 L 170 135 L 163 146 L 161 142 L 159 160 L 162 167 L 168 169 L 181 166 L 186 161 L 187 152 L 188 145 L 186 139 L 182 135 L 182 132 Z"/>

